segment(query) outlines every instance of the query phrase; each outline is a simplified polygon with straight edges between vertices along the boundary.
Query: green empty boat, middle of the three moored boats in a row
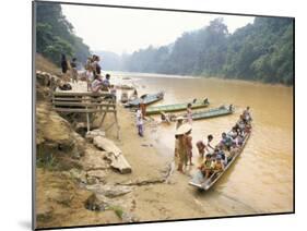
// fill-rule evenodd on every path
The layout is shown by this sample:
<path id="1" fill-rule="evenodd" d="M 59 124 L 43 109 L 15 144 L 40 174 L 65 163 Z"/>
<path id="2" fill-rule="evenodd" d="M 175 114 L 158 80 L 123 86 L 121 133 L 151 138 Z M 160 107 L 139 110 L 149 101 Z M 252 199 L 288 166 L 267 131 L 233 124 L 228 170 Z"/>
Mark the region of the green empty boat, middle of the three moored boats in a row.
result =
<path id="1" fill-rule="evenodd" d="M 149 107 L 146 109 L 146 114 L 158 114 L 161 112 L 175 112 L 175 111 L 182 111 L 187 109 L 187 105 L 189 102 L 185 104 L 175 104 L 175 105 L 162 105 L 162 106 L 156 106 L 156 107 Z M 192 102 L 192 109 L 198 109 L 198 108 L 205 108 L 209 106 L 209 100 L 205 98 L 204 100 L 197 100 L 194 99 Z"/>

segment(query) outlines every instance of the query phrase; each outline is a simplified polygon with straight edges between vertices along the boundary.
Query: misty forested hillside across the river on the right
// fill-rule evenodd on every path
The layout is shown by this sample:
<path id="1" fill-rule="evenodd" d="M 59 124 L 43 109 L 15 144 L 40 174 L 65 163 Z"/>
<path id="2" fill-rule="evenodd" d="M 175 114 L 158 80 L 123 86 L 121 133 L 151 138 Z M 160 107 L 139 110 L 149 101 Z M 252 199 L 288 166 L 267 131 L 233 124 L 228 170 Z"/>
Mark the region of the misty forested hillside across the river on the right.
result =
<path id="1" fill-rule="evenodd" d="M 293 84 L 293 20 L 256 17 L 228 33 L 223 19 L 184 33 L 168 46 L 140 49 L 122 58 L 125 71 L 220 76 Z"/>

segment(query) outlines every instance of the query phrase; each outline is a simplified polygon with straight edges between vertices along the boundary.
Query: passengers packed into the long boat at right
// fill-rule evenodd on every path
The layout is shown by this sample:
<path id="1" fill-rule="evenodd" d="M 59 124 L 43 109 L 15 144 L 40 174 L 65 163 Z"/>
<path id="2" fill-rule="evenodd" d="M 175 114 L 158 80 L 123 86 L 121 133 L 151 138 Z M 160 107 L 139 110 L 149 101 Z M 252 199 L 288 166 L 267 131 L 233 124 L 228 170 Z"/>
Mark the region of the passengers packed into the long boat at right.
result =
<path id="1" fill-rule="evenodd" d="M 200 156 L 203 157 L 206 153 L 203 162 L 199 167 L 205 179 L 210 178 L 214 172 L 223 171 L 233 157 L 240 151 L 244 141 L 251 130 L 250 122 L 251 117 L 249 107 L 247 107 L 232 131 L 222 133 L 221 141 L 214 148 L 203 142 L 197 143 Z M 212 139 L 213 136 L 209 135 L 209 144 Z"/>

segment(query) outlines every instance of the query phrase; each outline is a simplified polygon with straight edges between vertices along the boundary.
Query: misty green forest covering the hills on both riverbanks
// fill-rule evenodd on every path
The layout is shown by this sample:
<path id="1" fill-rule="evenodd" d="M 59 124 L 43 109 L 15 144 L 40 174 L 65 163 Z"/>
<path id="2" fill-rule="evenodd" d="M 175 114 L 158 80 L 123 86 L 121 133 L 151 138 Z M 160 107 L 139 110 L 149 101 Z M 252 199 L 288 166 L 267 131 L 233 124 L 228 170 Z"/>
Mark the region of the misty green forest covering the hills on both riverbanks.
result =
<path id="1" fill-rule="evenodd" d="M 201 29 L 184 33 L 166 46 L 149 46 L 122 56 L 105 50 L 96 53 L 102 56 L 101 64 L 105 70 L 293 85 L 293 19 L 259 16 L 252 24 L 231 34 L 223 19 L 217 17 Z M 48 2 L 36 4 L 36 51 L 58 65 L 61 53 L 83 63 L 90 56 L 88 46 L 74 34 L 61 5 Z"/>

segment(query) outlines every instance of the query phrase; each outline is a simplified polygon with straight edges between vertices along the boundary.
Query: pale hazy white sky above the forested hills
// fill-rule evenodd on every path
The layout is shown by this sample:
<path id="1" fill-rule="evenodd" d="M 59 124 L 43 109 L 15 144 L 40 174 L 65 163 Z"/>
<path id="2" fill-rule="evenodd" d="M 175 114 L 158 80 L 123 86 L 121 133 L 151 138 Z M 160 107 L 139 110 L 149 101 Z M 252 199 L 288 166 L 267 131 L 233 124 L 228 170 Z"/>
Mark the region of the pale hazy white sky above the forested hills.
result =
<path id="1" fill-rule="evenodd" d="M 118 54 L 130 53 L 150 45 L 168 45 L 184 32 L 206 26 L 215 17 L 224 17 L 229 33 L 252 23 L 255 19 L 69 4 L 62 4 L 62 11 L 74 26 L 75 34 L 84 39 L 91 50 L 107 50 Z"/>

